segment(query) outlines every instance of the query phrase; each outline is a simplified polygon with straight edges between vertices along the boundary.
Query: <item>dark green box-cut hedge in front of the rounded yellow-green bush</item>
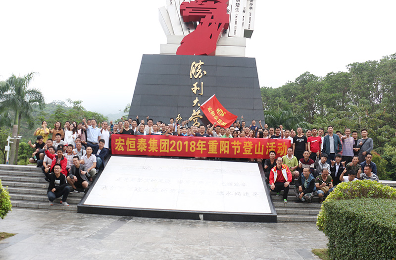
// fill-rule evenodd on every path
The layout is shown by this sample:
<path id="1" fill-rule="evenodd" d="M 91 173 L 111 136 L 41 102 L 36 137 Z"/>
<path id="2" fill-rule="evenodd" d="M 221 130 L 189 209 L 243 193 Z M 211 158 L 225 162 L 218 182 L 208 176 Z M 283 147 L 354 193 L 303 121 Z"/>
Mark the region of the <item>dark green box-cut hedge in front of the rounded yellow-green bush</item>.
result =
<path id="1" fill-rule="evenodd" d="M 333 200 L 322 210 L 330 259 L 396 258 L 396 200 Z"/>

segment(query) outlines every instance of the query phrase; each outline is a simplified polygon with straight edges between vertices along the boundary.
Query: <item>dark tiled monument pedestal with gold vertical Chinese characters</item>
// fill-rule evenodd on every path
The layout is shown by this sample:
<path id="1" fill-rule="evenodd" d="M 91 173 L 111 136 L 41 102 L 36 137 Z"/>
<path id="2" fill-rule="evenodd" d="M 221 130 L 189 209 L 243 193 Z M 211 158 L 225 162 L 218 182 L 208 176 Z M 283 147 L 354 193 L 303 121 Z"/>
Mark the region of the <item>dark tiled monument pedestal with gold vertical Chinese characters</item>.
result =
<path id="1" fill-rule="evenodd" d="M 194 62 L 201 62 L 202 74 Z M 186 120 L 213 94 L 247 125 L 252 119 L 264 122 L 255 58 L 222 56 L 143 55 L 129 117 L 168 123 L 180 114 Z M 203 112 L 200 116 L 198 122 L 206 126 Z"/>

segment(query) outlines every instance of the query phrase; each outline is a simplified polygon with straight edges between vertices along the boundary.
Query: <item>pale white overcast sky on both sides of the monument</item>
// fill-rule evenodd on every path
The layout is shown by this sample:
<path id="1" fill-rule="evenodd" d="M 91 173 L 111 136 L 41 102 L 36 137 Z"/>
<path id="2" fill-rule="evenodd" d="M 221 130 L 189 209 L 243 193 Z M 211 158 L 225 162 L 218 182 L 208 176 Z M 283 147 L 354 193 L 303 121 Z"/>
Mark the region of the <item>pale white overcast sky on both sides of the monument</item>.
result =
<path id="1" fill-rule="evenodd" d="M 142 54 L 158 54 L 165 0 L 0 1 L 0 80 L 35 71 L 46 102 L 82 100 L 117 113 L 132 101 Z M 247 56 L 260 87 L 309 71 L 346 71 L 352 62 L 396 52 L 395 0 L 257 0 Z M 153 101 L 155 103 L 155 101 Z"/>

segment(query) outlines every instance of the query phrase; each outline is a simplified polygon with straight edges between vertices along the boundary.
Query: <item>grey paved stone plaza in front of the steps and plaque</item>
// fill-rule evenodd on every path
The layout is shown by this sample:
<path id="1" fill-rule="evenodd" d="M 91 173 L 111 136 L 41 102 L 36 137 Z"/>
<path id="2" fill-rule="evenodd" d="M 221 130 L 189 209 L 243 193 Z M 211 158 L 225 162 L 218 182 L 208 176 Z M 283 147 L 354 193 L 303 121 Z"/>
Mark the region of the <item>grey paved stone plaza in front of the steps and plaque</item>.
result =
<path id="1" fill-rule="evenodd" d="M 327 239 L 315 224 L 171 220 L 13 209 L 1 260 L 317 259 Z"/>

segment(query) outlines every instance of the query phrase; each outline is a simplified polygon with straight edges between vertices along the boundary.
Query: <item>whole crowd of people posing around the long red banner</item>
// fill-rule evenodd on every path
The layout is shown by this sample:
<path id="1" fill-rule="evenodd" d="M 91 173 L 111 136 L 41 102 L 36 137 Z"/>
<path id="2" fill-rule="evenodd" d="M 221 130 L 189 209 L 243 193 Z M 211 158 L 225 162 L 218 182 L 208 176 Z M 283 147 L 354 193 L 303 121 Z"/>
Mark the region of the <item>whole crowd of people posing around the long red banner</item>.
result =
<path id="1" fill-rule="evenodd" d="M 50 205 L 55 198 L 62 196 L 61 205 L 68 206 L 66 200 L 70 192 L 84 192 L 108 154 L 111 154 L 111 136 L 123 135 L 174 135 L 187 137 L 217 138 L 268 138 L 289 139 L 291 147 L 287 155 L 276 158 L 274 151 L 269 158 L 257 159 L 261 162 L 272 191 L 284 191 L 287 203 L 289 185 L 296 184 L 296 196 L 300 202 L 311 202 L 317 195 L 324 199 L 340 182 L 356 179 L 378 181 L 377 168 L 371 161 L 373 140 L 368 138 L 366 129 L 357 131 L 345 128 L 344 133 L 328 126 L 312 128 L 305 132 L 301 127 L 284 129 L 282 125 L 268 127 L 258 125 L 255 120 L 249 126 L 246 121 L 235 121 L 230 127 L 213 125 L 189 126 L 189 121 L 170 118 L 169 123 L 147 117 L 145 120 L 129 118 L 116 124 L 112 121 L 97 123 L 95 119 L 82 122 L 57 121 L 53 128 L 46 121 L 34 132 L 37 141 L 29 145 L 34 149 L 30 163 L 41 167 L 49 182 L 48 198 Z M 52 137 L 52 138 L 51 138 Z M 250 159 L 254 161 L 254 159 Z"/>

